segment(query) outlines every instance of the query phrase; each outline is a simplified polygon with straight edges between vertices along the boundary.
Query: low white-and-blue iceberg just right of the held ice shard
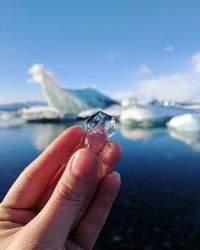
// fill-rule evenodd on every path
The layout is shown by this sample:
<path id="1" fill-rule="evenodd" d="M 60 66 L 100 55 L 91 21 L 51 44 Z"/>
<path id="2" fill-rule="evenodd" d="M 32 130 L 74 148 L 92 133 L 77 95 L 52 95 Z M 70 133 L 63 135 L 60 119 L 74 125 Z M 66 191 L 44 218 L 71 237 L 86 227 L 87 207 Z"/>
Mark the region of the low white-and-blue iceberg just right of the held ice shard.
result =
<path id="1" fill-rule="evenodd" d="M 186 112 L 188 110 L 173 107 L 135 105 L 122 111 L 120 122 L 129 126 L 161 126 L 165 125 L 170 118 Z"/>

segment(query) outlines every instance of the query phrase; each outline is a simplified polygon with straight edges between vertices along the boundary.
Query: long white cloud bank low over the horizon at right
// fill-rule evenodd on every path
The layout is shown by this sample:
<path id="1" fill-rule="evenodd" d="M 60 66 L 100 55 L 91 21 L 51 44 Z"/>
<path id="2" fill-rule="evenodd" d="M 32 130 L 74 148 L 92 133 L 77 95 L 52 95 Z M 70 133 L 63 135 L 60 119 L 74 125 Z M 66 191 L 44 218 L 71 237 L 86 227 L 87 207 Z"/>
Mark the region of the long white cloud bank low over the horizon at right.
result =
<path id="1" fill-rule="evenodd" d="M 200 102 L 200 53 L 192 56 L 193 69 L 161 75 L 157 78 L 139 81 L 131 90 L 120 91 L 119 98 L 136 97 L 142 100 L 171 100 Z"/>

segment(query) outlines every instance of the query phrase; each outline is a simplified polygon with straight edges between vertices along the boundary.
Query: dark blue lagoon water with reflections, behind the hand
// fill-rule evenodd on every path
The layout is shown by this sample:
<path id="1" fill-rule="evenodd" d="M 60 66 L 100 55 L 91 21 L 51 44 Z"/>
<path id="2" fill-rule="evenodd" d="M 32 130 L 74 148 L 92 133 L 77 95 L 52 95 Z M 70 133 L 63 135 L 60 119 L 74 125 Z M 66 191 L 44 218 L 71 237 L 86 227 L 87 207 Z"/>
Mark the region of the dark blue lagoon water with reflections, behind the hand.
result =
<path id="1" fill-rule="evenodd" d="M 0 199 L 19 173 L 68 125 L 0 129 Z M 200 249 L 198 134 L 119 128 L 122 189 L 99 249 Z"/>

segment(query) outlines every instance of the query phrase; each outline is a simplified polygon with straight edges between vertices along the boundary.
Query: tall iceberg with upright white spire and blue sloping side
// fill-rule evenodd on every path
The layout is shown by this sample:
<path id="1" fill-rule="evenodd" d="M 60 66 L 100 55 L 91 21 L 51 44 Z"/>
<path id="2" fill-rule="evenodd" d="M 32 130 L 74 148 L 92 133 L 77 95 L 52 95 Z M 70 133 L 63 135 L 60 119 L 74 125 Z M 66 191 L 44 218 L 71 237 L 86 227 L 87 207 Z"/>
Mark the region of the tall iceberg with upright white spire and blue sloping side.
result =
<path id="1" fill-rule="evenodd" d="M 91 87 L 76 90 L 61 88 L 53 74 L 42 65 L 33 65 L 29 73 L 31 82 L 41 84 L 49 106 L 61 113 L 78 114 L 84 110 L 104 109 L 118 103 Z"/>

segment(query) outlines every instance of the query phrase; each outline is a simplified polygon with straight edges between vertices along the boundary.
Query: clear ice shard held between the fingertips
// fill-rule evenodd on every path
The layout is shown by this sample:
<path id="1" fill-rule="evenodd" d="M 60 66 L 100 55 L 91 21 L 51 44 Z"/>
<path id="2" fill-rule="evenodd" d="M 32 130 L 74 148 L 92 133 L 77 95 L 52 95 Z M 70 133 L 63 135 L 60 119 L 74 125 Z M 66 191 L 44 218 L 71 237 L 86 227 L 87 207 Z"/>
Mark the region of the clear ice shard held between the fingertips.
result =
<path id="1" fill-rule="evenodd" d="M 99 154 L 108 139 L 115 133 L 116 120 L 102 111 L 90 116 L 85 122 L 85 148 Z"/>

